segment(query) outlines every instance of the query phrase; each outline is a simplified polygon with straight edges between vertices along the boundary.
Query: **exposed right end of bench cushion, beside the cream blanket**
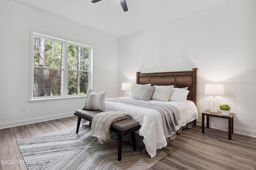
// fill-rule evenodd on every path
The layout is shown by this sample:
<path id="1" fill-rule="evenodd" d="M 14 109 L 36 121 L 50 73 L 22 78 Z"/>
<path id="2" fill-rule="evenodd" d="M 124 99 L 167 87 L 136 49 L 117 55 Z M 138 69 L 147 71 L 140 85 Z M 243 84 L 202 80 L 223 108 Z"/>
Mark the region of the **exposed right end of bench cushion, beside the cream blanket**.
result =
<path id="1" fill-rule="evenodd" d="M 124 132 L 139 125 L 140 123 L 134 119 L 123 119 L 112 123 L 111 127 Z"/>

